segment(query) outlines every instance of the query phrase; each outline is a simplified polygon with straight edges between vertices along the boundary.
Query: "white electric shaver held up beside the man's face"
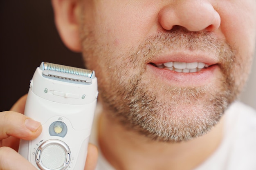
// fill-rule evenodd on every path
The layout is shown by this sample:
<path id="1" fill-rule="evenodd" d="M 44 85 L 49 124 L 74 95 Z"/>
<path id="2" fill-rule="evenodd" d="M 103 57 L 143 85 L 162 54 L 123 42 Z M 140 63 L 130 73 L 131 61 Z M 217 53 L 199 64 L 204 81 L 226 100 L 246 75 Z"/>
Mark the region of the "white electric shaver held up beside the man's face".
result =
<path id="1" fill-rule="evenodd" d="M 42 62 L 30 82 L 25 115 L 41 122 L 19 153 L 38 170 L 83 170 L 97 103 L 94 71 Z"/>

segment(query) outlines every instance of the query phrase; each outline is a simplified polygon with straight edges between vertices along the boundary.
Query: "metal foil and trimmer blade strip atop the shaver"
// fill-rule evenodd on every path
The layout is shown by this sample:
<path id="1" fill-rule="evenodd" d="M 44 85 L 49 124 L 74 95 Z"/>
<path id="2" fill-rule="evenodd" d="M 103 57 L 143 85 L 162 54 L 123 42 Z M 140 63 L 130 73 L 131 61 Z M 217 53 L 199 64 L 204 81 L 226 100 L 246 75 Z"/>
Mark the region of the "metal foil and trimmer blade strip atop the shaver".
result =
<path id="1" fill-rule="evenodd" d="M 43 71 L 44 77 L 64 82 L 91 84 L 92 79 L 95 78 L 94 71 L 83 68 L 64 66 L 49 62 L 42 62 L 39 68 Z"/>

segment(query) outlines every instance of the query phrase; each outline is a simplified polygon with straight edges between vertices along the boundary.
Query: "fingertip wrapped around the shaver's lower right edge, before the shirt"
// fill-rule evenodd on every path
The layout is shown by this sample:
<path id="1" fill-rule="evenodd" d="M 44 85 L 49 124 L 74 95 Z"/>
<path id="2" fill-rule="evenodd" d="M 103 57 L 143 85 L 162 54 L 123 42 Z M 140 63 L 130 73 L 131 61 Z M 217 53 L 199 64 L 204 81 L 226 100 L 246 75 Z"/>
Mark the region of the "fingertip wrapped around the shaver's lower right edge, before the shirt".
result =
<path id="1" fill-rule="evenodd" d="M 97 165 L 97 160 L 98 160 L 98 149 L 96 146 L 89 144 L 84 170 L 95 170 Z"/>

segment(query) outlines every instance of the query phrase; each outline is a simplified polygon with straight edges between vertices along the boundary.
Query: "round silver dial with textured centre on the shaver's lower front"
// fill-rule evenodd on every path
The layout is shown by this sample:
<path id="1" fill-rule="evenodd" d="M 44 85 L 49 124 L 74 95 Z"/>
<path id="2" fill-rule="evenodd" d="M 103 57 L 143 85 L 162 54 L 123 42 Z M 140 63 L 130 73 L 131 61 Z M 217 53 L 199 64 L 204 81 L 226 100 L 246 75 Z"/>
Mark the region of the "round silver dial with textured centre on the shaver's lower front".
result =
<path id="1" fill-rule="evenodd" d="M 50 139 L 36 150 L 36 164 L 41 170 L 65 170 L 70 163 L 71 152 L 67 144 Z"/>

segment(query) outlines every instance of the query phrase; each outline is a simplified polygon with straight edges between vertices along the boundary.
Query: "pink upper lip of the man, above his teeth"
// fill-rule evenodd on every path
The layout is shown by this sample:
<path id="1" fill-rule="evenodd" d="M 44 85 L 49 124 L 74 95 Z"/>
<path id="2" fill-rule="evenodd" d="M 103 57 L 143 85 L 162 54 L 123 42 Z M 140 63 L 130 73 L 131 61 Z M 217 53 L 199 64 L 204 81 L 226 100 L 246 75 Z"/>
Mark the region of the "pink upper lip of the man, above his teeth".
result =
<path id="1" fill-rule="evenodd" d="M 189 52 L 189 53 L 164 53 L 159 54 L 148 61 L 148 63 L 160 64 L 166 62 L 203 62 L 209 66 L 218 64 L 218 57 L 209 53 Z"/>

